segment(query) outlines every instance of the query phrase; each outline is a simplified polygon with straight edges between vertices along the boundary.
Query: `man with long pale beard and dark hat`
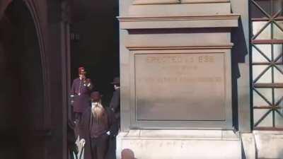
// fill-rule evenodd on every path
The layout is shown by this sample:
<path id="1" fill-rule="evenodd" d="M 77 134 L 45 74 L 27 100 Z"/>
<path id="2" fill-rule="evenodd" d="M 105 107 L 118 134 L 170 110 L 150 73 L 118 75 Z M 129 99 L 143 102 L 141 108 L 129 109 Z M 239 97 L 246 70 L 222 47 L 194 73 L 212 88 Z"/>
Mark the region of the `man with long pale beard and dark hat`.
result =
<path id="1" fill-rule="evenodd" d="M 105 159 L 108 151 L 111 126 L 115 119 L 112 111 L 101 105 L 100 98 L 99 92 L 91 93 L 91 107 L 83 112 L 79 122 L 80 143 L 84 144 L 84 159 Z"/>

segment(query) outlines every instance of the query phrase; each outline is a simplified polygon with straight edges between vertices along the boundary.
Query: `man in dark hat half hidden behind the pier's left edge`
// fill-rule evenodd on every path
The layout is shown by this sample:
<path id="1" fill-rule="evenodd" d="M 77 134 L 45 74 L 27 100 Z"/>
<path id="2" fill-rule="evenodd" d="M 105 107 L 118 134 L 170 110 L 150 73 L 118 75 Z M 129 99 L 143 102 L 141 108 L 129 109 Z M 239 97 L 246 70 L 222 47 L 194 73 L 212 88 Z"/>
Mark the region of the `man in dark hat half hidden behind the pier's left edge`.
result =
<path id="1" fill-rule="evenodd" d="M 109 140 L 109 150 L 107 159 L 116 158 L 116 136 L 120 129 L 120 78 L 115 77 L 111 83 L 114 86 L 113 96 L 110 102 L 110 110 L 115 114 L 115 125 L 112 126 L 112 135 Z"/>

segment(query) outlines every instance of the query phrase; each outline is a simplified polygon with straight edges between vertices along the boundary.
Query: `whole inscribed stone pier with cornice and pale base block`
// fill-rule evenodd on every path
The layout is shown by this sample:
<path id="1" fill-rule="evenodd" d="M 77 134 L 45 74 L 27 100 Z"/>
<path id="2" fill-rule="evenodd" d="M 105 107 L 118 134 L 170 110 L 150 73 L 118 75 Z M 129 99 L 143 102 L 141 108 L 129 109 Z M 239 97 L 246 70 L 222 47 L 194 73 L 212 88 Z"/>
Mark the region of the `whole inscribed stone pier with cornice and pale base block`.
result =
<path id="1" fill-rule="evenodd" d="M 230 1 L 134 1 L 121 13 L 117 158 L 124 149 L 138 159 L 241 158 Z"/>

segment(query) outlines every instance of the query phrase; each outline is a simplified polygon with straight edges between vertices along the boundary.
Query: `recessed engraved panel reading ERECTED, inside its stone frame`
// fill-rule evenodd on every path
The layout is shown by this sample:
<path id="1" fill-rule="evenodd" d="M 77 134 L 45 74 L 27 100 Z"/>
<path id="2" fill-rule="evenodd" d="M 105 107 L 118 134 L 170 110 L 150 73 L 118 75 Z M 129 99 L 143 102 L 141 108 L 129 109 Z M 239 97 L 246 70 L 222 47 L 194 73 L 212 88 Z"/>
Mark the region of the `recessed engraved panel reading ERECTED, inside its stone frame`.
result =
<path id="1" fill-rule="evenodd" d="M 138 121 L 225 121 L 225 54 L 134 54 Z"/>

